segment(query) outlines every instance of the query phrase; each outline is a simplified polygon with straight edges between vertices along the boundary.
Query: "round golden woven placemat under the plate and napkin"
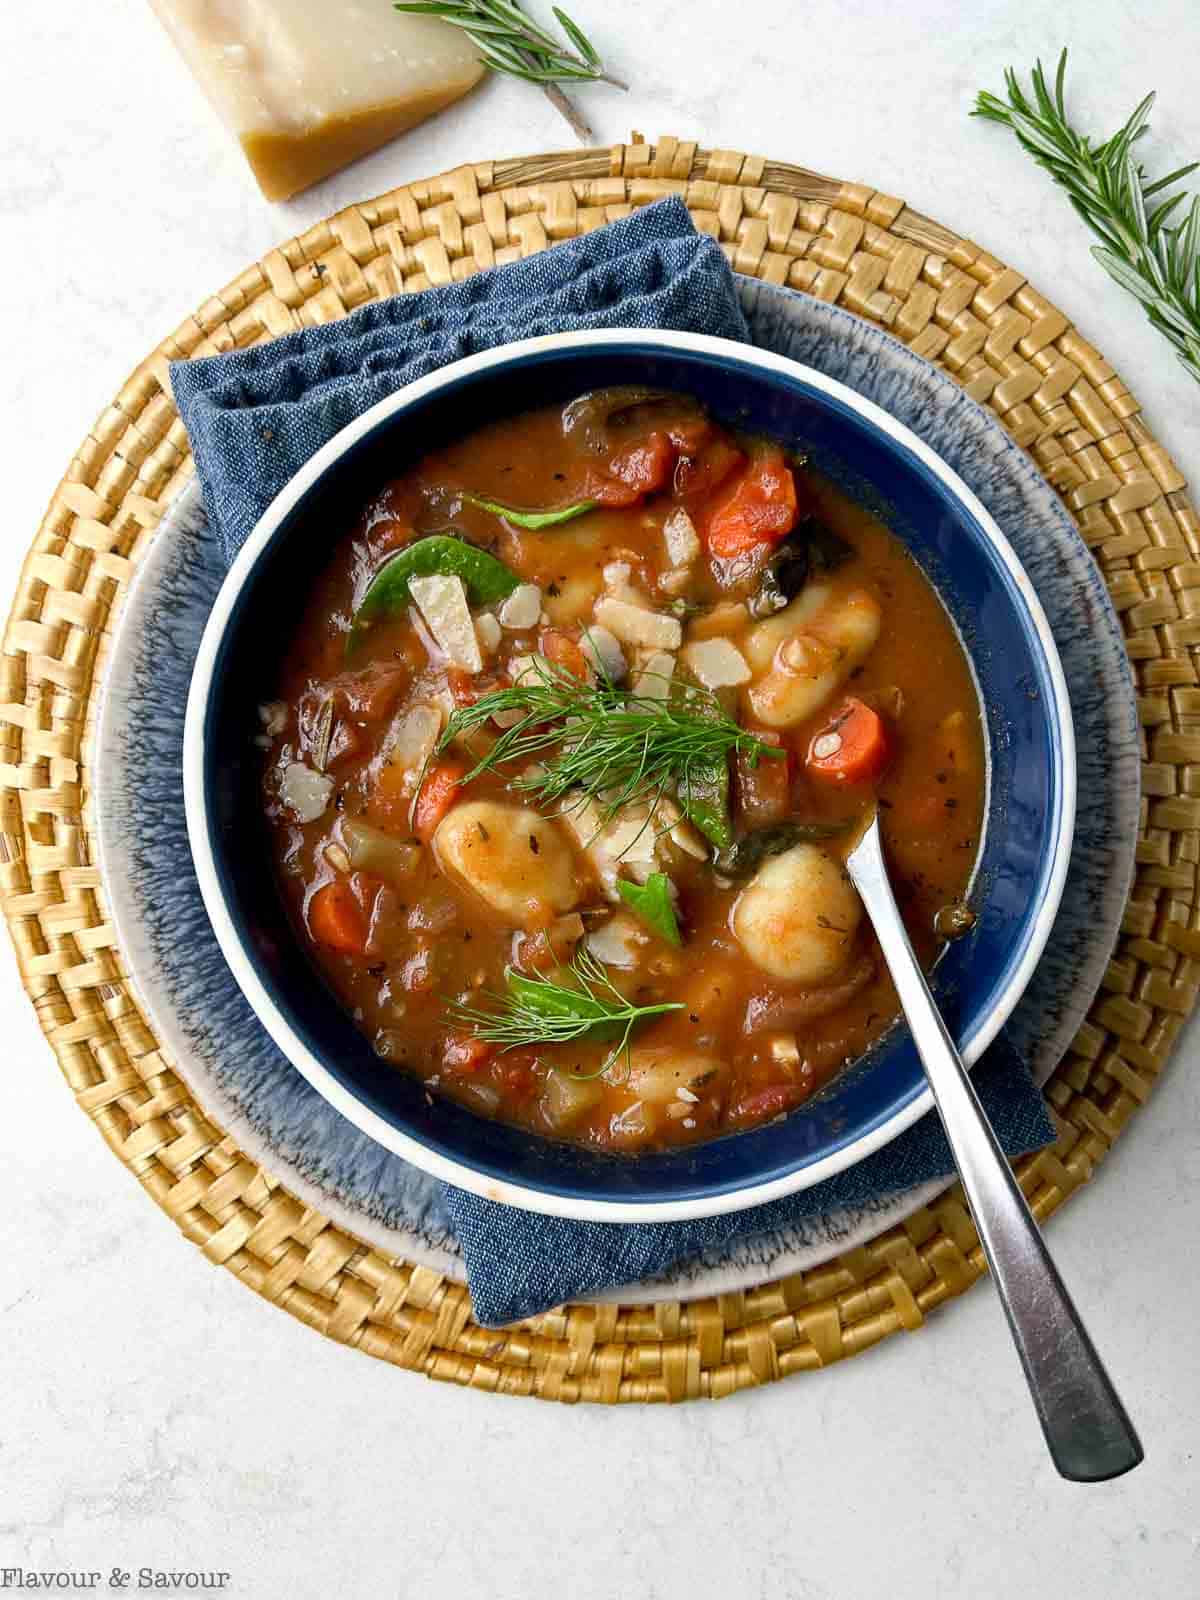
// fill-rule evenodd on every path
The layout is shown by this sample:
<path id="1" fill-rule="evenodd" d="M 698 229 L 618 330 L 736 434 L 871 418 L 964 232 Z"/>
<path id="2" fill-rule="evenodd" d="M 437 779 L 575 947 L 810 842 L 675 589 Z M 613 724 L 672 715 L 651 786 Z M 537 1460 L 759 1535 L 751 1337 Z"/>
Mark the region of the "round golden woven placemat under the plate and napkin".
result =
<path id="1" fill-rule="evenodd" d="M 173 1072 L 109 922 L 90 730 L 122 590 L 192 474 L 170 360 L 467 277 L 666 194 L 686 200 L 738 272 L 883 325 L 990 406 L 1075 517 L 1122 616 L 1144 730 L 1139 867 L 1106 986 L 1046 1090 L 1058 1144 L 1019 1163 L 1050 1216 L 1149 1096 L 1197 994 L 1200 523 L 1099 350 L 1018 270 L 902 200 L 634 134 L 462 166 L 318 222 L 205 301 L 104 410 L 37 533 L 0 658 L 0 904 L 46 1038 L 114 1154 L 210 1261 L 320 1333 L 430 1378 L 555 1400 L 725 1395 L 918 1328 L 984 1270 L 962 1190 L 746 1293 L 478 1328 L 461 1285 L 302 1206 Z"/>

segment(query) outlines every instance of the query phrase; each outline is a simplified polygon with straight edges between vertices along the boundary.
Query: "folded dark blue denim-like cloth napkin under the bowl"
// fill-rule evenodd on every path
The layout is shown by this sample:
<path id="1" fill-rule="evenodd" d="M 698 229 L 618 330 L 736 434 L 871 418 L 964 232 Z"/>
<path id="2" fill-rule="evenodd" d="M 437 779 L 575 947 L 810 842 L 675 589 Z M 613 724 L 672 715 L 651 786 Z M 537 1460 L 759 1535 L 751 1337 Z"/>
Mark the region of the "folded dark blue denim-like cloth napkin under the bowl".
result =
<path id="1" fill-rule="evenodd" d="M 635 211 L 450 288 L 381 301 L 342 322 L 171 366 L 208 517 L 232 562 L 296 470 L 376 400 L 446 362 L 539 333 L 686 328 L 746 339 L 738 290 L 715 240 L 680 200 Z M 1024 1064 L 1002 1042 L 974 1072 L 1010 1155 L 1054 1138 Z M 445 1186 L 477 1318 L 501 1325 L 600 1288 L 954 1171 L 934 1114 L 846 1173 L 786 1200 L 698 1222 L 565 1222 Z"/>

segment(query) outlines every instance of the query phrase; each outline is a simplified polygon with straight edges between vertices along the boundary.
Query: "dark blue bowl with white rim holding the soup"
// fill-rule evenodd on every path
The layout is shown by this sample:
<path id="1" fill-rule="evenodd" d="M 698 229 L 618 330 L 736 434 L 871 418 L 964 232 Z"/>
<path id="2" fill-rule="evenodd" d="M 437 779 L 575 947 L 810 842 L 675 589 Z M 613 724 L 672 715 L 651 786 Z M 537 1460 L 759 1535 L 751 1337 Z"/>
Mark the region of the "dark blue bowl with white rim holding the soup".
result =
<path id="1" fill-rule="evenodd" d="M 381 1066 L 315 978 L 274 882 L 259 821 L 256 694 L 278 618 L 328 558 L 328 530 L 429 450 L 517 410 L 608 384 L 696 395 L 714 416 L 803 448 L 907 544 L 952 614 L 987 728 L 979 920 L 938 965 L 938 994 L 974 1062 L 1050 934 L 1070 858 L 1075 747 L 1062 669 L 1032 584 L 965 483 L 885 411 L 829 378 L 701 334 L 554 334 L 446 366 L 336 435 L 272 502 L 234 563 L 197 658 L 184 734 L 187 826 L 221 949 L 264 1027 L 330 1104 L 379 1144 L 493 1200 L 610 1222 L 674 1221 L 779 1198 L 862 1160 L 931 1098 L 896 1027 L 787 1118 L 710 1144 L 603 1155 L 477 1117 Z"/>

